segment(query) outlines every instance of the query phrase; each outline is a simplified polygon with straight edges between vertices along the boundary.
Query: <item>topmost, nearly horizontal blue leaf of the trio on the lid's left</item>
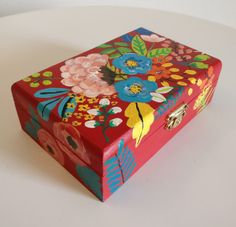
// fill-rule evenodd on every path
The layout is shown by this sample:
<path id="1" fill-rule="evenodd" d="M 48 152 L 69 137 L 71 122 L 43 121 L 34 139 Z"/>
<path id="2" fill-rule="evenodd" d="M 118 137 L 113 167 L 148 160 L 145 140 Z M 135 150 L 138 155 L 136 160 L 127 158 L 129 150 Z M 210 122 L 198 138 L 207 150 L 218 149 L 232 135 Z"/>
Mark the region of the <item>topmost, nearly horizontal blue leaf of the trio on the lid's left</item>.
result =
<path id="1" fill-rule="evenodd" d="M 56 88 L 56 87 L 51 87 L 51 88 L 46 88 L 43 90 L 37 91 L 34 96 L 37 98 L 53 98 L 57 97 L 60 95 L 67 94 L 69 89 L 66 88 Z"/>

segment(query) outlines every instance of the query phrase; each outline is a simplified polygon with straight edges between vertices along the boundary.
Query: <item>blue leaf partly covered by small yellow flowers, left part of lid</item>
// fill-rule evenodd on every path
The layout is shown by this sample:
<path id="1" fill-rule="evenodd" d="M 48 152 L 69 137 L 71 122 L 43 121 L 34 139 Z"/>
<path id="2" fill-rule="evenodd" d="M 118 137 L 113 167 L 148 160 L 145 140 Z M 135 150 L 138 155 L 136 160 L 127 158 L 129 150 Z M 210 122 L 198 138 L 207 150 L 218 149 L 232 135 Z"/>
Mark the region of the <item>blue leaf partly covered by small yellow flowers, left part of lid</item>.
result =
<path id="1" fill-rule="evenodd" d="M 77 106 L 76 98 L 66 96 L 60 103 L 58 107 L 58 114 L 62 118 L 66 118 L 70 116 L 75 111 L 75 108 Z"/>

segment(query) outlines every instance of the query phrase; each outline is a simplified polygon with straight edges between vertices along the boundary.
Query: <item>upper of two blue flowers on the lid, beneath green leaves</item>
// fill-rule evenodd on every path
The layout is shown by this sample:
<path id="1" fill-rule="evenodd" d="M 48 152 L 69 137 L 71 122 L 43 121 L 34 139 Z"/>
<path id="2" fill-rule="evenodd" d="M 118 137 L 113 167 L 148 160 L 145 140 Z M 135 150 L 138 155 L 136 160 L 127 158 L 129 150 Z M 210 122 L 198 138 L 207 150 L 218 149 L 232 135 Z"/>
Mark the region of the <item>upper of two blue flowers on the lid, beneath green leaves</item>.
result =
<path id="1" fill-rule="evenodd" d="M 140 56 L 134 53 L 127 53 L 123 56 L 116 58 L 113 65 L 121 69 L 124 73 L 129 75 L 145 74 L 152 67 L 150 58 Z"/>

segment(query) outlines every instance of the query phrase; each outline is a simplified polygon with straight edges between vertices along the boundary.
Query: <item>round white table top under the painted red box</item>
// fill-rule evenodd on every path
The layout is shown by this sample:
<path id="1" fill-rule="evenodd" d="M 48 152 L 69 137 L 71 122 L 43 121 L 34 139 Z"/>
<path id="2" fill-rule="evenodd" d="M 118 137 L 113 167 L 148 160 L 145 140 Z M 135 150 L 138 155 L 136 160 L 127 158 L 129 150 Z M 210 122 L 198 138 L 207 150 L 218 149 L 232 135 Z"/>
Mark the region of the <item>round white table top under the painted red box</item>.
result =
<path id="1" fill-rule="evenodd" d="M 211 105 L 105 203 L 20 130 L 10 85 L 137 27 L 217 56 Z M 157 10 L 80 7 L 0 18 L 0 226 L 236 226 L 236 30 Z"/>

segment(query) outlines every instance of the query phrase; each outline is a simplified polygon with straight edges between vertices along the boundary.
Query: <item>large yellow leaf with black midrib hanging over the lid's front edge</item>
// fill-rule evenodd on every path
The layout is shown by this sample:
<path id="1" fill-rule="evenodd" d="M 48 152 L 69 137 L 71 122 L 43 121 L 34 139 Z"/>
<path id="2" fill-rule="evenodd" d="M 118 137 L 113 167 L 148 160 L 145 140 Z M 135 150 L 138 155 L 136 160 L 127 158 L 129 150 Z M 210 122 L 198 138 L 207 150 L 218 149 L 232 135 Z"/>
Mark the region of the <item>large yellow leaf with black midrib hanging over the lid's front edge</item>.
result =
<path id="1" fill-rule="evenodd" d="M 137 147 L 154 122 L 154 109 L 147 103 L 130 103 L 125 116 L 129 118 L 126 124 L 133 129 L 132 138 L 136 140 Z"/>

